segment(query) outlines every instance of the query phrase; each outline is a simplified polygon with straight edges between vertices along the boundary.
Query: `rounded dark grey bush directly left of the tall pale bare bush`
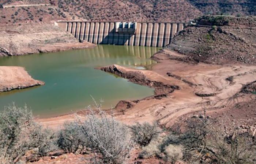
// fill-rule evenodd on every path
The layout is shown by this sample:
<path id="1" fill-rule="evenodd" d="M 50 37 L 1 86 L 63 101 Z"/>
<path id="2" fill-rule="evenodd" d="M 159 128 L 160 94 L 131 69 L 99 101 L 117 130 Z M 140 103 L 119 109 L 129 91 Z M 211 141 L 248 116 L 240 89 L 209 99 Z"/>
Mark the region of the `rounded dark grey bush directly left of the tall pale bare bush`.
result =
<path id="1" fill-rule="evenodd" d="M 78 122 L 70 122 L 65 123 L 64 129 L 60 130 L 57 144 L 65 152 L 83 153 L 87 142 L 82 126 Z"/>

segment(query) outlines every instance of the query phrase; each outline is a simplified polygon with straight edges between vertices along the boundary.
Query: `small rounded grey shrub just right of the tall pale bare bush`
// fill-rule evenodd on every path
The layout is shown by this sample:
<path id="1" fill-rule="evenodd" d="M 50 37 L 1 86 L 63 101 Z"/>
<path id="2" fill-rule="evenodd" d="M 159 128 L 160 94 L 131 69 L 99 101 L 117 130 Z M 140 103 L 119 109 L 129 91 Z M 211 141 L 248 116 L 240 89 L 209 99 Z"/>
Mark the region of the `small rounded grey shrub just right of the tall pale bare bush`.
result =
<path id="1" fill-rule="evenodd" d="M 140 146 L 147 146 L 160 133 L 156 123 L 153 125 L 150 125 L 148 122 L 144 124 L 137 123 L 136 125 L 130 126 L 130 128 L 132 130 L 133 140 Z"/>

